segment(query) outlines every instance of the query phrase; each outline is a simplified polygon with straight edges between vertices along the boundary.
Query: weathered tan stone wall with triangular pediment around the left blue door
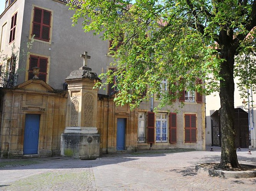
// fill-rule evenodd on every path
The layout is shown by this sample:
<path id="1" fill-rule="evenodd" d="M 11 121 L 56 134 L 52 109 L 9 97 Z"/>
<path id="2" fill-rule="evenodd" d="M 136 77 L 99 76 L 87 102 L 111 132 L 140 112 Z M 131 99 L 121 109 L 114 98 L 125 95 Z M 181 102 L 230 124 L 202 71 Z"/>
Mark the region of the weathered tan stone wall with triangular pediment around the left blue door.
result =
<path id="1" fill-rule="evenodd" d="M 26 114 L 40 115 L 38 156 L 60 154 L 65 129 L 66 92 L 56 92 L 41 80 L 30 80 L 3 90 L 0 157 L 23 157 Z"/>

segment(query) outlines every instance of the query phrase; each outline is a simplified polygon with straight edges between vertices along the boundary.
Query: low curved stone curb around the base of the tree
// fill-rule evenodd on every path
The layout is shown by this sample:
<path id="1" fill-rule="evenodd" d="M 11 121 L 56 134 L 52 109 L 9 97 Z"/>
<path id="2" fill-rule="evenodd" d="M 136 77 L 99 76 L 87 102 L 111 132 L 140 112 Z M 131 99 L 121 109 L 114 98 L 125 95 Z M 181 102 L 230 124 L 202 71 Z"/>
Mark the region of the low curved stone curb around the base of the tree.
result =
<path id="1" fill-rule="evenodd" d="M 196 172 L 200 174 L 217 176 L 222 178 L 255 178 L 256 177 L 256 170 L 226 171 L 226 170 L 217 170 L 214 168 L 201 167 L 200 165 L 196 165 Z"/>

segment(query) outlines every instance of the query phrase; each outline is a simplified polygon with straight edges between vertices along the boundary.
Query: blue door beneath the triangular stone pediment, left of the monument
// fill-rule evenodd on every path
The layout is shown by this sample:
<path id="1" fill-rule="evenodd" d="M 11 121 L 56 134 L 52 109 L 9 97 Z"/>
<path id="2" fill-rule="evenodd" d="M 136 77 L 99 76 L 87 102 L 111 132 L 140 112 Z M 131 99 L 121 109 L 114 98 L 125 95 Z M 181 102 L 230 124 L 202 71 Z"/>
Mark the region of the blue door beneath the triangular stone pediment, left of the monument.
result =
<path id="1" fill-rule="evenodd" d="M 23 154 L 37 154 L 40 115 L 26 114 Z"/>

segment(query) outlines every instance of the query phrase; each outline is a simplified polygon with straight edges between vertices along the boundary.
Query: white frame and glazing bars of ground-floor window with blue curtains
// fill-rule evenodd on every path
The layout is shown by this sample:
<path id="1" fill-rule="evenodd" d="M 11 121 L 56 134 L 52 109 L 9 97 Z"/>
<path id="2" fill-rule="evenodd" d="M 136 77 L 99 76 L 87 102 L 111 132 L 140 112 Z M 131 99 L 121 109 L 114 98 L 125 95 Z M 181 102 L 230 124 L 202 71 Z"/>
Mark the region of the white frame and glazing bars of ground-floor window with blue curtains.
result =
<path id="1" fill-rule="evenodd" d="M 160 115 L 160 118 L 157 118 L 158 115 Z M 163 115 L 165 115 L 166 117 L 163 118 Z M 160 127 L 157 126 L 158 121 L 160 122 Z M 165 122 L 165 124 L 166 124 L 165 127 L 163 127 L 163 122 Z M 156 141 L 155 142 L 168 142 L 168 129 L 167 129 L 167 127 L 168 127 L 168 115 L 167 115 L 167 113 L 156 113 L 155 114 L 155 134 L 156 134 L 156 137 L 155 137 Z M 157 140 L 157 135 L 159 135 L 159 133 L 157 133 L 157 128 L 160 128 L 160 140 Z M 166 140 L 163 140 L 163 135 L 165 135 L 165 134 L 163 134 L 163 128 L 165 128 L 165 130 L 166 130 L 166 133 L 165 133 L 166 134 L 166 138 L 165 138 Z"/>

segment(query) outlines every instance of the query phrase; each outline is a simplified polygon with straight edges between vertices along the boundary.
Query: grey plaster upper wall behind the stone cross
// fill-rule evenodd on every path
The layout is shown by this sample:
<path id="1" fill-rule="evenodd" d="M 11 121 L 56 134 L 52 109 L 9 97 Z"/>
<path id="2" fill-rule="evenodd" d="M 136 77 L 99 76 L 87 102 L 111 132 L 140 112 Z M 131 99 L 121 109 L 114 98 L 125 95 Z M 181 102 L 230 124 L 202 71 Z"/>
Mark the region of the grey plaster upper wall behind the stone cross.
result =
<path id="1" fill-rule="evenodd" d="M 64 79 L 69 76 L 70 72 L 83 66 L 83 58 L 80 57 L 84 51 L 88 52 L 91 59 L 88 59 L 88 66 L 97 74 L 107 70 L 106 66 L 112 60 L 107 55 L 109 52 L 109 41 L 102 41 L 99 36 L 94 36 L 92 32 L 84 33 L 81 22 L 72 27 L 71 16 L 74 11 L 68 10 L 66 5 L 58 0 L 26 0 L 25 11 L 23 15 L 23 26 L 21 40 L 27 41 L 31 36 L 30 28 L 33 21 L 33 6 L 50 10 L 52 13 L 52 34 L 50 42 L 35 40 L 31 49 L 31 55 L 40 54 L 50 57 L 50 86 L 56 89 L 63 89 Z M 22 63 L 26 68 L 28 58 Z M 25 71 L 20 73 L 18 83 L 24 82 Z M 106 94 L 101 89 L 99 93 Z"/>

